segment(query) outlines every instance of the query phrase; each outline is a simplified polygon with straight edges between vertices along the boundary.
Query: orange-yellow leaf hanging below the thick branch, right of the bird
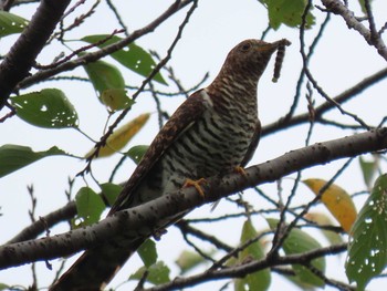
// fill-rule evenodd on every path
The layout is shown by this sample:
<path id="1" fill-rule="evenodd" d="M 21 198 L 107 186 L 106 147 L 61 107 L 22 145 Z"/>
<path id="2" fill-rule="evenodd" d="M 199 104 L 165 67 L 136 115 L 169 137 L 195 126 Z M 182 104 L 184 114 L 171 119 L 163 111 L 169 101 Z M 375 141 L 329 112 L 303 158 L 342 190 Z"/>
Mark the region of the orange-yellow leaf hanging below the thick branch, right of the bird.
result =
<path id="1" fill-rule="evenodd" d="M 326 180 L 306 179 L 303 183 L 317 195 L 320 189 L 326 184 Z M 357 216 L 356 207 L 351 196 L 342 187 L 333 184 L 324 191 L 321 200 L 336 218 L 342 228 L 346 232 L 349 232 Z"/>

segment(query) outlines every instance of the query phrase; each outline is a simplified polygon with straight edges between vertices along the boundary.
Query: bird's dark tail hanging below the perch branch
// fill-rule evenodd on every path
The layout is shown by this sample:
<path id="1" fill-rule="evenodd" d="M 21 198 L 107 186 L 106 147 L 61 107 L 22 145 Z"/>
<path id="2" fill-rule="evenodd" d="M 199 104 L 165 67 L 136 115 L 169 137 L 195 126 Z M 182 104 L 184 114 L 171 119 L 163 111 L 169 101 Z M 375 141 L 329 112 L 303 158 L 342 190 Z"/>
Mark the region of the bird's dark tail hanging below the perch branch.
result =
<path id="1" fill-rule="evenodd" d="M 143 241 L 135 240 L 125 248 L 112 241 L 86 250 L 50 291 L 103 290 Z"/>

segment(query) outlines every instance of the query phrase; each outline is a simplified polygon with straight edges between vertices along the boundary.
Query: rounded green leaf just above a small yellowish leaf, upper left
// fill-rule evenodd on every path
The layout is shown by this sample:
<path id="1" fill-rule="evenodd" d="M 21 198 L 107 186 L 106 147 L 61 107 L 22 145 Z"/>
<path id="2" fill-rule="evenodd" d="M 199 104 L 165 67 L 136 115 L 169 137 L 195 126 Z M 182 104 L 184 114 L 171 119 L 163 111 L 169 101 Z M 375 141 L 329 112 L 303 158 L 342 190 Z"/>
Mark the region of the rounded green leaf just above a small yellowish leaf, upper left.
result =
<path id="1" fill-rule="evenodd" d="M 125 81 L 119 70 L 104 61 L 95 61 L 83 66 L 95 91 L 100 94 L 107 89 L 125 89 Z"/>

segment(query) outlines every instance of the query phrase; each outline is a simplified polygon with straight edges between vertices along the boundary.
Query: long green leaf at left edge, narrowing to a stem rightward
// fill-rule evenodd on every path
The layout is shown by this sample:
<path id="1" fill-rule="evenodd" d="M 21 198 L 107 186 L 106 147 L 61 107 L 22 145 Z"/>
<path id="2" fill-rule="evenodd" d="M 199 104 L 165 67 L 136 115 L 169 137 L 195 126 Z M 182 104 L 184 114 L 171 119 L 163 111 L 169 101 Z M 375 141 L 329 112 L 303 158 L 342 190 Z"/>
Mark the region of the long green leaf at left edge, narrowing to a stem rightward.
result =
<path id="1" fill-rule="evenodd" d="M 25 167 L 38 159 L 54 155 L 67 155 L 56 146 L 44 152 L 33 152 L 31 147 L 20 145 L 2 145 L 0 147 L 0 178 Z"/>

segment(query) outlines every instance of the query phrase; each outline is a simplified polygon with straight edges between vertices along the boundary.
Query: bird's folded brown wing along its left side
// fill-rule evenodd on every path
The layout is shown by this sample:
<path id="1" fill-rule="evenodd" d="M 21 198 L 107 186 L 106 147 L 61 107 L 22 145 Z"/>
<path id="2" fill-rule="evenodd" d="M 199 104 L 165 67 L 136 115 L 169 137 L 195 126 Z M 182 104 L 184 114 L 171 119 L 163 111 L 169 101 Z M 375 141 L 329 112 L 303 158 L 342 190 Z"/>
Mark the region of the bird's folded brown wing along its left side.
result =
<path id="1" fill-rule="evenodd" d="M 188 100 L 177 108 L 151 142 L 148 150 L 145 153 L 135 172 L 126 183 L 108 215 L 113 215 L 116 211 L 132 206 L 134 190 L 151 170 L 157 160 L 163 157 L 169 146 L 180 136 L 180 134 L 192 126 L 192 124 L 199 119 L 203 112 L 210 106 L 208 97 L 209 96 L 205 93 L 203 89 L 199 90 L 191 94 Z"/>

